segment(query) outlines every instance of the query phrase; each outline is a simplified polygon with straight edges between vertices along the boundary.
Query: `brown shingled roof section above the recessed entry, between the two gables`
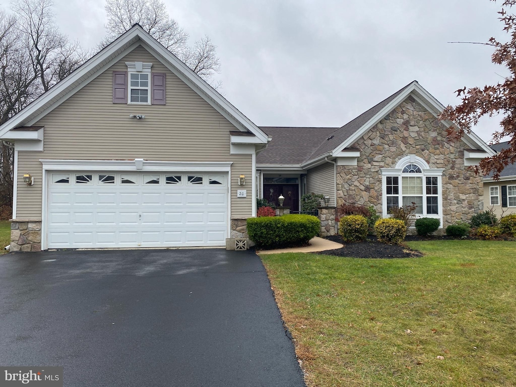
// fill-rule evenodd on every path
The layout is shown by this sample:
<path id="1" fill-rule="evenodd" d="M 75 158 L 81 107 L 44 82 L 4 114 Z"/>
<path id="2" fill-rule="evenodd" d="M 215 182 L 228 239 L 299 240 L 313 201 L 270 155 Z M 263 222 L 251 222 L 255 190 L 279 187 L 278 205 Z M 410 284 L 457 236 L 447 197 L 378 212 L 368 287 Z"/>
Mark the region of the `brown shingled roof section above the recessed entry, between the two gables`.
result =
<path id="1" fill-rule="evenodd" d="M 256 155 L 257 164 L 301 164 L 336 127 L 261 126 L 272 141 Z"/>

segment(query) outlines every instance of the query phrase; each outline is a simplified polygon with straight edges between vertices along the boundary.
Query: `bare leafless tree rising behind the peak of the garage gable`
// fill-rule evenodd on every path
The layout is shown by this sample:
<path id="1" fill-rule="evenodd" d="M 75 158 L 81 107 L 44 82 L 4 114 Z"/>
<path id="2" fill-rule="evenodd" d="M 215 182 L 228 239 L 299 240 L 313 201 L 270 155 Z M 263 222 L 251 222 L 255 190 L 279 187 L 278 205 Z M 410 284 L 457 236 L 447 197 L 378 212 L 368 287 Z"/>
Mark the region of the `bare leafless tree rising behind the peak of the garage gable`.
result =
<path id="1" fill-rule="evenodd" d="M 220 72 L 217 47 L 207 36 L 188 45 L 188 34 L 170 18 L 162 0 L 107 0 L 105 10 L 107 36 L 99 49 L 139 24 L 204 80 Z"/>

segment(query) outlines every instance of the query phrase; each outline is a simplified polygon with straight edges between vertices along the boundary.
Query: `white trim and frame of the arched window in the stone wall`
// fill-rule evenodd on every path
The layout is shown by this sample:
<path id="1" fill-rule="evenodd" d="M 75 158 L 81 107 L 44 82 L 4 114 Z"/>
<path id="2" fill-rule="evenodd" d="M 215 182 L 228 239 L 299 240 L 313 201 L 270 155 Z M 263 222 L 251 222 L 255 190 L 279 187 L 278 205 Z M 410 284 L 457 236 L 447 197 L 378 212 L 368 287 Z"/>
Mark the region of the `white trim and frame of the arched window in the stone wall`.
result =
<path id="1" fill-rule="evenodd" d="M 422 173 L 402 173 L 403 168 L 408 164 L 415 164 L 418 167 L 421 168 Z M 399 184 L 399 205 L 403 205 L 403 195 L 402 195 L 402 184 L 401 184 L 401 178 L 402 176 L 422 176 L 423 178 L 423 214 L 417 214 L 417 218 L 435 218 L 439 219 L 441 222 L 441 227 L 443 225 L 443 195 L 442 195 L 442 175 L 443 175 L 444 168 L 430 168 L 429 165 L 420 157 L 417 157 L 415 155 L 408 155 L 401 160 L 398 161 L 396 164 L 396 168 L 380 168 L 380 173 L 382 175 L 382 215 L 384 218 L 390 216 L 387 213 L 387 178 L 388 176 L 394 176 L 398 177 L 398 184 Z M 438 205 L 439 205 L 439 214 L 427 214 L 426 213 L 426 179 L 430 177 L 437 176 L 437 189 L 438 189 Z M 394 195 L 389 195 L 394 196 Z M 434 197 L 435 195 L 429 195 Z"/>

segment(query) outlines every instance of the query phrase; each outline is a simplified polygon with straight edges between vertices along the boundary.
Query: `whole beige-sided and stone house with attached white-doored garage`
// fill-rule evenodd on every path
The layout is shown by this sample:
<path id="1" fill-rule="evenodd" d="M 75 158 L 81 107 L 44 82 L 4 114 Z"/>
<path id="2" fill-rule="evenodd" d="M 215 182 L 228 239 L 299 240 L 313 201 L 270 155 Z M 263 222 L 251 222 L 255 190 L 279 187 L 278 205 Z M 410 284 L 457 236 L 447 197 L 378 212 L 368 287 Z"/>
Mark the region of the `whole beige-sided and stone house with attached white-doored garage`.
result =
<path id="1" fill-rule="evenodd" d="M 11 250 L 245 249 L 257 197 L 295 210 L 304 192 L 415 202 L 445 227 L 482 208 L 467 167 L 494 151 L 447 142 L 442 109 L 414 81 L 340 128 L 258 127 L 135 25 L 0 126 Z"/>

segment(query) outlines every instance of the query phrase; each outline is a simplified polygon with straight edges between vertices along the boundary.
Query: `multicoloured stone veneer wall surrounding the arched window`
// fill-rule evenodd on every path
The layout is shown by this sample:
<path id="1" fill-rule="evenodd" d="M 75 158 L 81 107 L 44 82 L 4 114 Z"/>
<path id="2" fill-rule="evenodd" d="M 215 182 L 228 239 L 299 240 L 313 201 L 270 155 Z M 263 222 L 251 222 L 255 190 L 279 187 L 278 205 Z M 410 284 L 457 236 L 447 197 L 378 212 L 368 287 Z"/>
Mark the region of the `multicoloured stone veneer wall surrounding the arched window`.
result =
<path id="1" fill-rule="evenodd" d="M 337 206 L 373 205 L 382 214 L 380 168 L 394 168 L 414 154 L 430 168 L 443 168 L 443 223 L 466 221 L 483 209 L 482 180 L 464 166 L 464 142 L 446 140 L 446 127 L 411 96 L 390 112 L 351 148 L 358 148 L 356 166 L 337 166 Z"/>

